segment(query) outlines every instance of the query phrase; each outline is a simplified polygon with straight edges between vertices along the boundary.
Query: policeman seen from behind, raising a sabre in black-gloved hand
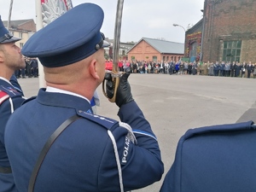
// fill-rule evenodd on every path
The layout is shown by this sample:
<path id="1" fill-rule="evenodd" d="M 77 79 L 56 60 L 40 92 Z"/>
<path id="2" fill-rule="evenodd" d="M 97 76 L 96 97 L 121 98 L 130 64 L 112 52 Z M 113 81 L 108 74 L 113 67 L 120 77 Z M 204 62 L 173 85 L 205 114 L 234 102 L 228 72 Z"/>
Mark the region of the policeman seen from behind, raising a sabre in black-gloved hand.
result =
<path id="1" fill-rule="evenodd" d="M 100 32 L 103 18 L 96 4 L 80 4 L 22 49 L 44 66 L 47 87 L 13 113 L 5 131 L 19 191 L 128 191 L 159 181 L 164 172 L 157 138 L 131 96 L 129 73 L 116 95 L 120 121 L 92 113 L 109 46 Z"/>

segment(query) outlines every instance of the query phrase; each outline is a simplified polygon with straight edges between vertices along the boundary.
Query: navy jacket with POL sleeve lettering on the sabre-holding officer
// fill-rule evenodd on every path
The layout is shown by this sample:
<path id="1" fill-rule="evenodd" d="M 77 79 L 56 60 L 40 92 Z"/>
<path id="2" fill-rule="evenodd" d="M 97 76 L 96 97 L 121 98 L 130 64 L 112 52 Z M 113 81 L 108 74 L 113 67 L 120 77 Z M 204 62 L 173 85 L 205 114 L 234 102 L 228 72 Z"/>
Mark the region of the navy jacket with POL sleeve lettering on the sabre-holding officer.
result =
<path id="1" fill-rule="evenodd" d="M 7 125 L 5 143 L 15 183 L 27 191 L 38 154 L 55 129 L 77 113 L 49 148 L 38 172 L 34 191 L 120 191 L 119 170 L 108 135 L 118 149 L 125 191 L 159 181 L 164 172 L 154 133 L 136 102 L 119 108 L 119 118 L 131 125 L 137 144 L 113 119 L 90 113 L 90 103 L 78 96 L 39 90 L 38 97 L 15 111 Z M 15 143 L 13 142 L 15 141 Z"/>

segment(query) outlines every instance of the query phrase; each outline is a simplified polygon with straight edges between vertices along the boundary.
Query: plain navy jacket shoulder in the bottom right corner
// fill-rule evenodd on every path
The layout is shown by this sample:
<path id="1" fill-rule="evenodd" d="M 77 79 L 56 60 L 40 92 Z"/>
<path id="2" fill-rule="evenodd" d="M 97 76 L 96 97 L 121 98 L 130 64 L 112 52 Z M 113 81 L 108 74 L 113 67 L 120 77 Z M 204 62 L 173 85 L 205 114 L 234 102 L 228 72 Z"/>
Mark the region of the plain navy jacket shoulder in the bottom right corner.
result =
<path id="1" fill-rule="evenodd" d="M 186 131 L 160 192 L 255 192 L 253 121 Z"/>

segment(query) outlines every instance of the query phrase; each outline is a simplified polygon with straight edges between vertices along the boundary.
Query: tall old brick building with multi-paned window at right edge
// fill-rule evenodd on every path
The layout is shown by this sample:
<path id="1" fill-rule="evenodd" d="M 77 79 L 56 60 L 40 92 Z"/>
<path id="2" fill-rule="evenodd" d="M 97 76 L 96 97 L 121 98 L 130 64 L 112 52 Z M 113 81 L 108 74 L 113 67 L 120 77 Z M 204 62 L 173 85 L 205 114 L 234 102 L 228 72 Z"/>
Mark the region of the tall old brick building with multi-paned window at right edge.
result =
<path id="1" fill-rule="evenodd" d="M 186 32 L 185 56 L 255 62 L 255 20 L 256 0 L 205 0 L 203 19 Z"/>

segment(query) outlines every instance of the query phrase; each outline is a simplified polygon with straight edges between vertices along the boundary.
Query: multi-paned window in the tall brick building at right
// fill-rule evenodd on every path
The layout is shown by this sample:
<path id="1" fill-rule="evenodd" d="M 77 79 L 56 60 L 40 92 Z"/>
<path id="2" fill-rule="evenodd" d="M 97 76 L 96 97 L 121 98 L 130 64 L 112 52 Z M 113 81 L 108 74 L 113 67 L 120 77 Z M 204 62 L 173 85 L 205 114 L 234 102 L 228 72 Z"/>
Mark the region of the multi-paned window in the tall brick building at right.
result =
<path id="1" fill-rule="evenodd" d="M 224 41 L 223 61 L 240 62 L 241 41 Z"/>

